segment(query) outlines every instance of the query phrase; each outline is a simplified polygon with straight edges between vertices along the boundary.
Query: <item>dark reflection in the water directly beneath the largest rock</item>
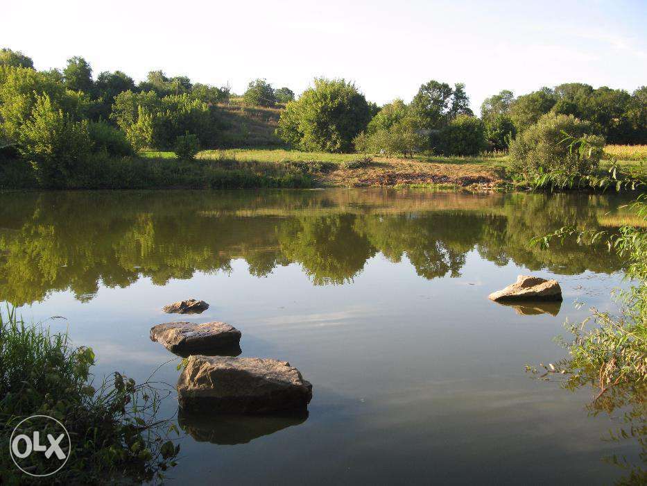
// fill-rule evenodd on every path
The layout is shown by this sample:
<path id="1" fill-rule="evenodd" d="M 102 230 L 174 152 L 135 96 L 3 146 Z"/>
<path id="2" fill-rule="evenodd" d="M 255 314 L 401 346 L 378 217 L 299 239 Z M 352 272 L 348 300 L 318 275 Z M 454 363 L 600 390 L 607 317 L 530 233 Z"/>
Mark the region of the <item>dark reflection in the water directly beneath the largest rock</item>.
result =
<path id="1" fill-rule="evenodd" d="M 264 435 L 298 426 L 308 419 L 308 411 L 273 415 L 226 415 L 178 409 L 178 423 L 198 442 L 232 446 L 247 444 Z"/>

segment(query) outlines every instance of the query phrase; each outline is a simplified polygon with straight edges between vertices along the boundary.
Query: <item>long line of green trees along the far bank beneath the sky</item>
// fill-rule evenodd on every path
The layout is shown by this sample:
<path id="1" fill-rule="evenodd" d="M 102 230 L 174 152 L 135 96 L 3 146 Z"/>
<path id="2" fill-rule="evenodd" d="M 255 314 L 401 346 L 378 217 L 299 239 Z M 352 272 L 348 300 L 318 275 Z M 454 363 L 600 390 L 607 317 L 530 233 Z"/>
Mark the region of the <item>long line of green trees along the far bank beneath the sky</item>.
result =
<path id="1" fill-rule="evenodd" d="M 121 71 L 95 79 L 78 56 L 62 70 L 37 71 L 24 53 L 1 49 L 0 150 L 11 147 L 46 187 L 64 187 L 97 153 L 132 157 L 148 147 L 190 160 L 200 149 L 218 147 L 224 126 L 217 105 L 232 96 L 228 87 L 162 71 L 149 72 L 140 83 Z M 259 78 L 239 100 L 284 107 L 276 134 L 304 151 L 470 156 L 508 150 L 532 128 L 540 135 L 526 136 L 525 149 L 511 149 L 523 157 L 521 166 L 546 137 L 555 145 L 558 128 L 599 137 L 591 139 L 598 146 L 647 143 L 647 87 L 630 94 L 566 83 L 519 97 L 503 90 L 483 102 L 481 117 L 469 108 L 463 83 L 435 80 L 420 85 L 410 103 L 395 99 L 384 106 L 367 101 L 354 83 L 327 78 L 316 78 L 298 98 L 288 87 L 275 89 Z M 557 165 L 563 150 L 552 152 L 557 156 L 546 160 L 540 154 L 535 166 Z"/>

